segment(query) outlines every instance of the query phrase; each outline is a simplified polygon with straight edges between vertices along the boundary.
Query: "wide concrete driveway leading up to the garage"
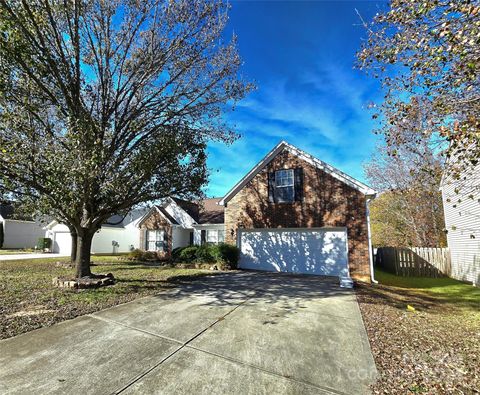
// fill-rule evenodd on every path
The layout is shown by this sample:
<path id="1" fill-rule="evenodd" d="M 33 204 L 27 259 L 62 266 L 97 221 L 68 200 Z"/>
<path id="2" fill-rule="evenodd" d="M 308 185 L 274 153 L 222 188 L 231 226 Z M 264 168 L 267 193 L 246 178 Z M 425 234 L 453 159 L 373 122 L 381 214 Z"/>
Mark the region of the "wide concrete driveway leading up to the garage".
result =
<path id="1" fill-rule="evenodd" d="M 2 394 L 359 394 L 376 375 L 351 290 L 209 276 L 0 342 Z"/>

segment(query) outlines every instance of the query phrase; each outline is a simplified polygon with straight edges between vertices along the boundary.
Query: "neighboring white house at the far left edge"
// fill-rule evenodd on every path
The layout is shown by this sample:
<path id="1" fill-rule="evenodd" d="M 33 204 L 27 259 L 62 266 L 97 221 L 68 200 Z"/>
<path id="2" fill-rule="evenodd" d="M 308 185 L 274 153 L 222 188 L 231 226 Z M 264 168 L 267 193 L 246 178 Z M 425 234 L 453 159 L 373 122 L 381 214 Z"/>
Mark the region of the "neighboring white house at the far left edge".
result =
<path id="1" fill-rule="evenodd" d="M 40 221 L 16 213 L 11 203 L 0 204 L 0 226 L 3 228 L 2 248 L 34 248 L 44 234 Z"/>

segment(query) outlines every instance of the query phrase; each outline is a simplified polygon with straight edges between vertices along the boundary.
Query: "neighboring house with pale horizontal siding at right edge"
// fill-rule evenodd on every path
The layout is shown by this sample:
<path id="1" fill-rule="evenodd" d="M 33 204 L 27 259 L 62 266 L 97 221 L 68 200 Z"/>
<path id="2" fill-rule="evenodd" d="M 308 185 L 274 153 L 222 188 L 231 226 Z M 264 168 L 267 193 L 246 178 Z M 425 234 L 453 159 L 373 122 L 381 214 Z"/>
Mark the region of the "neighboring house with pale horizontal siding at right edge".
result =
<path id="1" fill-rule="evenodd" d="M 480 285 L 480 164 L 442 180 L 451 276 Z"/>

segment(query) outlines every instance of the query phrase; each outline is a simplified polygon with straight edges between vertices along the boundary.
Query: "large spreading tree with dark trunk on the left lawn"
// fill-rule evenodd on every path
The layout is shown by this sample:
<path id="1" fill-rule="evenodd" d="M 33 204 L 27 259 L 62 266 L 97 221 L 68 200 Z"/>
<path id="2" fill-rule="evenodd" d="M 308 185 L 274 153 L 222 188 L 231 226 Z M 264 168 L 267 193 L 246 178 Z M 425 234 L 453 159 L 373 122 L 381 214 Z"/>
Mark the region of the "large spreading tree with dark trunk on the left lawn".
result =
<path id="1" fill-rule="evenodd" d="M 0 189 L 76 234 L 77 276 L 107 218 L 201 194 L 206 143 L 252 88 L 223 1 L 0 0 Z"/>

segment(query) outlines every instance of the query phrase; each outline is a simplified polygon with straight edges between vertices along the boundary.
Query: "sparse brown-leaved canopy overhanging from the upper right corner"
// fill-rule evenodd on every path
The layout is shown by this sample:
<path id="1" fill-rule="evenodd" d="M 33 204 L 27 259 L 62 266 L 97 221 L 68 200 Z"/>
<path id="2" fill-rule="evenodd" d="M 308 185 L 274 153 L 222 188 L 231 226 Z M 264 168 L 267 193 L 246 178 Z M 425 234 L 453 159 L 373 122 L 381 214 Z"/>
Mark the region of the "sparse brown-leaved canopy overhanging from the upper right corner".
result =
<path id="1" fill-rule="evenodd" d="M 375 117 L 382 115 L 380 132 L 387 143 L 395 147 L 440 138 L 447 142 L 446 155 L 455 156 L 451 163 L 475 165 L 480 150 L 478 0 L 391 0 L 363 24 L 368 40 L 358 65 L 385 89 Z M 419 103 L 428 120 L 411 129 L 404 120 Z"/>

